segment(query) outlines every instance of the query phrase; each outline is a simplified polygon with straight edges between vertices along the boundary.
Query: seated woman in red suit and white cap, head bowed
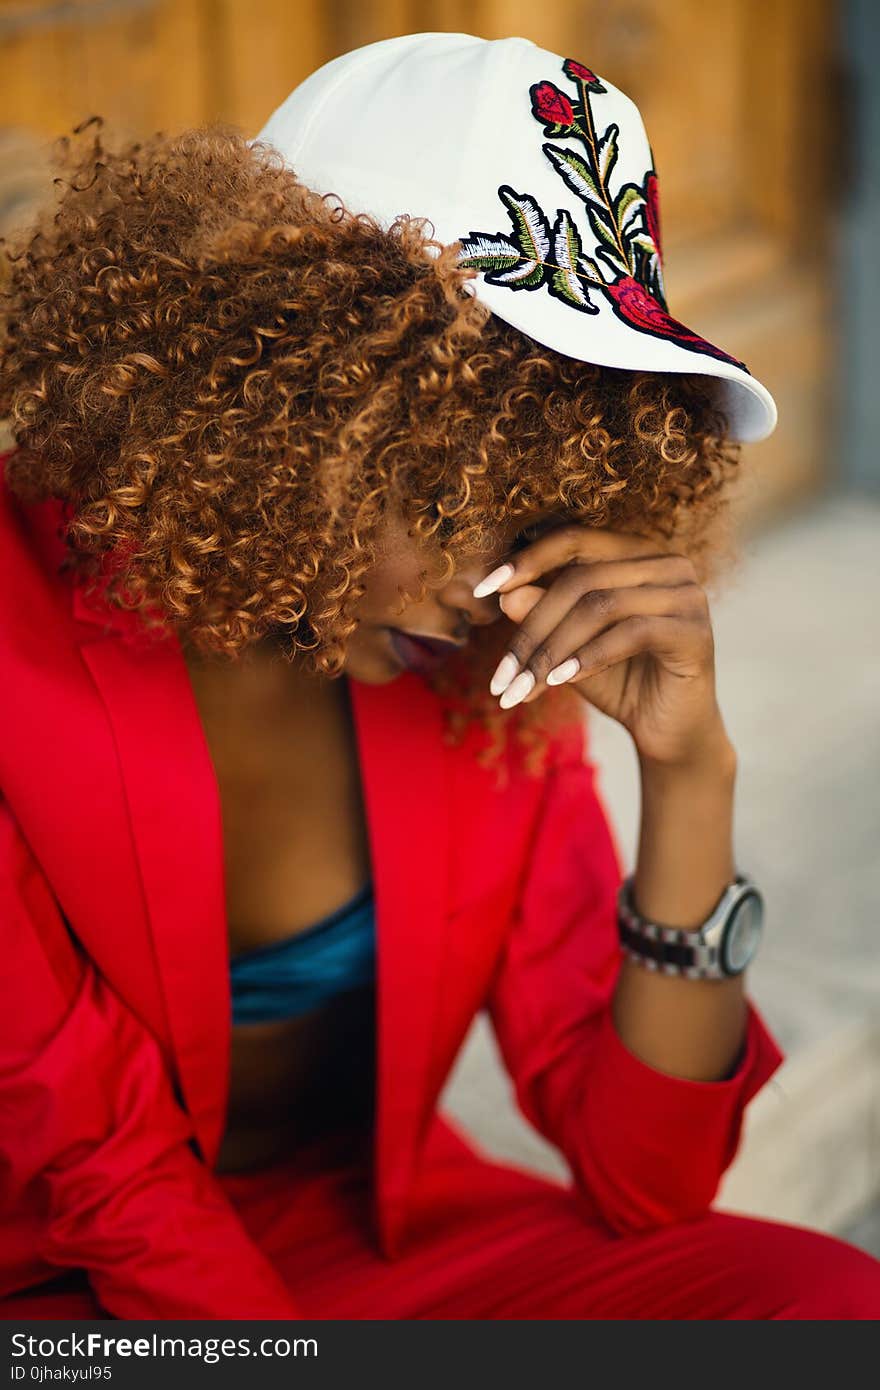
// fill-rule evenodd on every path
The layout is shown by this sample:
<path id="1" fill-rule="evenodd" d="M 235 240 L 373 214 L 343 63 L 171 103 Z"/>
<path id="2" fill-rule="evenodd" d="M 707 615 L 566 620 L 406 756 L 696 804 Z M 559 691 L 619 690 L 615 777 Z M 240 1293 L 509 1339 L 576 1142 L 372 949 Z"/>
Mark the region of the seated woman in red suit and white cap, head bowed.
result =
<path id="1" fill-rule="evenodd" d="M 666 313 L 635 108 L 416 35 L 250 145 L 78 133 L 4 329 L 7 1316 L 876 1315 L 710 1209 L 783 1059 L 703 589 L 774 413 Z M 570 1184 L 438 1112 L 480 1008 Z"/>

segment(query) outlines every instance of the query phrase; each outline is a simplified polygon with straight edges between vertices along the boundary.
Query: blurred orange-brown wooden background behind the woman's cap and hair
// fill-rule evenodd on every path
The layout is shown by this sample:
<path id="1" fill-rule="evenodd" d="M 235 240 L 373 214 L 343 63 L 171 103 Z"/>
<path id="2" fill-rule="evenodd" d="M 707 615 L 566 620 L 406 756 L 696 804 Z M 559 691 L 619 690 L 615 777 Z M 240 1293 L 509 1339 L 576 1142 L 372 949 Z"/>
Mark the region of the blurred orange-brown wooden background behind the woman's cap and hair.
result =
<path id="1" fill-rule="evenodd" d="M 0 0 L 0 228 L 46 195 L 47 140 L 220 117 L 247 135 L 313 68 L 431 29 L 524 35 L 639 106 L 671 313 L 770 388 L 744 450 L 751 527 L 836 471 L 836 204 L 847 178 L 834 0 Z"/>

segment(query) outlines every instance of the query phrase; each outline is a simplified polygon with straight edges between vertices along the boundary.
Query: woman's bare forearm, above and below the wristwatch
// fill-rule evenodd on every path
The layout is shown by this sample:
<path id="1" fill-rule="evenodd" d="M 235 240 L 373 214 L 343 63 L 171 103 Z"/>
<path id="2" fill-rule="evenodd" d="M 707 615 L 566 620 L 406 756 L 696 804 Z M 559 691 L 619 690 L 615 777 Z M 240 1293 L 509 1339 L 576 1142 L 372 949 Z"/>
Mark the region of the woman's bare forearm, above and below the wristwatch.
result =
<path id="1" fill-rule="evenodd" d="M 639 760 L 635 906 L 665 926 L 698 929 L 735 873 L 737 758 L 723 724 L 701 758 L 673 767 Z M 690 980 L 624 956 L 612 1002 L 623 1042 L 649 1066 L 692 1080 L 731 1074 L 745 1036 L 745 974 Z"/>

